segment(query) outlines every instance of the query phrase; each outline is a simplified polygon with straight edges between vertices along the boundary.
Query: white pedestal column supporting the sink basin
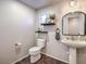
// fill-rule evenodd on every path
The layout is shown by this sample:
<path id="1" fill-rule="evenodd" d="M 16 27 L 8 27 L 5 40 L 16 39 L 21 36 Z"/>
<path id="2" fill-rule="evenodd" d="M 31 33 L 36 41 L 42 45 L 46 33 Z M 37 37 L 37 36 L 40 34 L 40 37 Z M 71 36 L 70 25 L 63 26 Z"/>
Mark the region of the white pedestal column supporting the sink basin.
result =
<path id="1" fill-rule="evenodd" d="M 70 48 L 70 64 L 76 64 L 76 48 Z"/>

